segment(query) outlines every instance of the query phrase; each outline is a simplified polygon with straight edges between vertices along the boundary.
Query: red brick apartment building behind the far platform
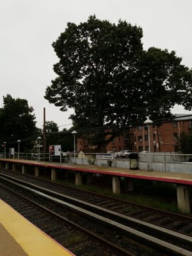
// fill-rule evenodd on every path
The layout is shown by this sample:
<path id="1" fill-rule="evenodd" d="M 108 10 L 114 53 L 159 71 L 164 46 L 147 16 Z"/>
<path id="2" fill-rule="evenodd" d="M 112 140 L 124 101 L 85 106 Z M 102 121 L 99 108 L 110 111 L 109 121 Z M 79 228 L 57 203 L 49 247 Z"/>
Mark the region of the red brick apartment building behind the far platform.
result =
<path id="1" fill-rule="evenodd" d="M 164 124 L 149 125 L 149 131 L 146 126 L 128 127 L 122 136 L 118 136 L 111 141 L 106 151 L 119 152 L 120 150 L 131 149 L 134 152 L 148 150 L 149 141 L 151 152 L 179 152 L 179 137 L 181 132 L 188 134 L 192 131 L 192 116 L 176 115 L 177 118 L 172 122 Z M 150 135 L 150 140 L 148 138 Z M 95 149 L 88 145 L 83 139 L 77 140 L 78 150 Z"/>

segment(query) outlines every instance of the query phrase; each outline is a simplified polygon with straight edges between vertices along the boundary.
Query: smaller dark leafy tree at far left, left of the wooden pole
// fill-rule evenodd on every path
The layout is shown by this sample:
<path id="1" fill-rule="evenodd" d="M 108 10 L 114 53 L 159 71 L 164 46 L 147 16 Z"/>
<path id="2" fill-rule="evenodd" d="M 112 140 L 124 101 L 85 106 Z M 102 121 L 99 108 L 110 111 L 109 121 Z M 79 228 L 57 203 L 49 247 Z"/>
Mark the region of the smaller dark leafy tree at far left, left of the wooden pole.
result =
<path id="1" fill-rule="evenodd" d="M 33 147 L 31 141 L 38 134 L 33 108 L 26 99 L 13 99 L 11 95 L 3 97 L 3 108 L 0 109 L 0 140 L 6 141 L 8 147 L 18 147 L 20 151 Z"/>

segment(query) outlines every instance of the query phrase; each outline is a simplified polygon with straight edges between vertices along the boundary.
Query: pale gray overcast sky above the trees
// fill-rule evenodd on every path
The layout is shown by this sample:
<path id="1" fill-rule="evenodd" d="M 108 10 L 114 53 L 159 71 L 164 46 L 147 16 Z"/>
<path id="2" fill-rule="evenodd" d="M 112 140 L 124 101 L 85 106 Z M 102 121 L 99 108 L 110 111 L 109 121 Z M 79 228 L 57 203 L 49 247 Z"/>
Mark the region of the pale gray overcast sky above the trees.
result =
<path id="1" fill-rule="evenodd" d="M 67 22 L 79 24 L 90 15 L 117 23 L 119 19 L 143 29 L 143 47 L 176 51 L 182 64 L 192 68 L 191 0 L 1 0 L 0 108 L 3 96 L 28 100 L 35 109 L 37 127 L 46 120 L 69 128 L 69 113 L 44 99 L 45 88 L 56 77 L 58 61 L 51 46 Z M 189 113 L 183 108 L 173 113 Z M 67 126 L 64 126 L 67 125 Z"/>

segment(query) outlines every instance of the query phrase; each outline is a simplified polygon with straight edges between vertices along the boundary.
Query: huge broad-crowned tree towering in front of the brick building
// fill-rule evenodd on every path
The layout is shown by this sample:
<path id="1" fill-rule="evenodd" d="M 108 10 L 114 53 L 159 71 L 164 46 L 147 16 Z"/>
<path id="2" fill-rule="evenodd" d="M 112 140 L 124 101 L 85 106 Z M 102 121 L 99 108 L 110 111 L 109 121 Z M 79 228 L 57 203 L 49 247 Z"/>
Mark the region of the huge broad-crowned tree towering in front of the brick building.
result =
<path id="1" fill-rule="evenodd" d="M 70 118 L 76 129 L 92 131 L 93 145 L 107 144 L 106 134 L 113 140 L 120 132 L 116 127 L 143 122 L 145 116 L 170 116 L 170 108 L 191 95 L 191 70 L 174 51 L 144 51 L 142 36 L 138 26 L 90 16 L 79 25 L 68 23 L 52 44 L 58 77 L 45 99 L 61 111 L 74 108 Z"/>

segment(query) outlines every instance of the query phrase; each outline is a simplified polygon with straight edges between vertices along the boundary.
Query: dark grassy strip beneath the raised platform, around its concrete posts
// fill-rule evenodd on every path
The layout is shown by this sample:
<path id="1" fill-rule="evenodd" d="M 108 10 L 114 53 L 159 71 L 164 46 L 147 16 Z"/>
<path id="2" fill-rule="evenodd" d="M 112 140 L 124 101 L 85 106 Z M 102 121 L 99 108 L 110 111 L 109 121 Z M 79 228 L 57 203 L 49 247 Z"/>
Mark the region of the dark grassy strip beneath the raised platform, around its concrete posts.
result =
<path id="1" fill-rule="evenodd" d="M 163 211 L 184 214 L 184 212 L 180 212 L 177 208 L 177 187 L 175 184 L 133 179 L 134 191 L 125 193 L 125 181 L 122 179 L 122 193 L 118 195 L 112 192 L 112 177 L 108 175 L 95 177 L 94 182 L 89 185 L 85 184 L 85 178 L 86 175 L 83 177 L 84 184 L 78 186 L 78 188 L 148 207 L 154 207 Z M 59 182 L 75 186 L 74 177 L 72 179 L 60 180 Z"/>

